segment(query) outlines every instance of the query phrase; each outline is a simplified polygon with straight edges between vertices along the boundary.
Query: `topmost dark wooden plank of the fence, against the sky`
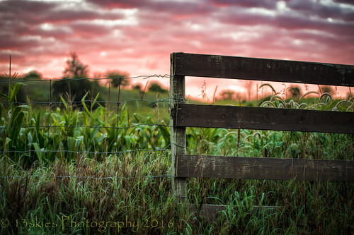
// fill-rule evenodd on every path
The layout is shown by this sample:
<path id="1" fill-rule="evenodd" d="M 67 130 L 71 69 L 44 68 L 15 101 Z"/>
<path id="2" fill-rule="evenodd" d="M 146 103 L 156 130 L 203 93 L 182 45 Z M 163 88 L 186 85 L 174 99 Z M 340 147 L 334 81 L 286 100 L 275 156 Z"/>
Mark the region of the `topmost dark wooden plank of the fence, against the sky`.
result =
<path id="1" fill-rule="evenodd" d="M 173 53 L 176 76 L 354 86 L 354 66 L 237 56 Z"/>

